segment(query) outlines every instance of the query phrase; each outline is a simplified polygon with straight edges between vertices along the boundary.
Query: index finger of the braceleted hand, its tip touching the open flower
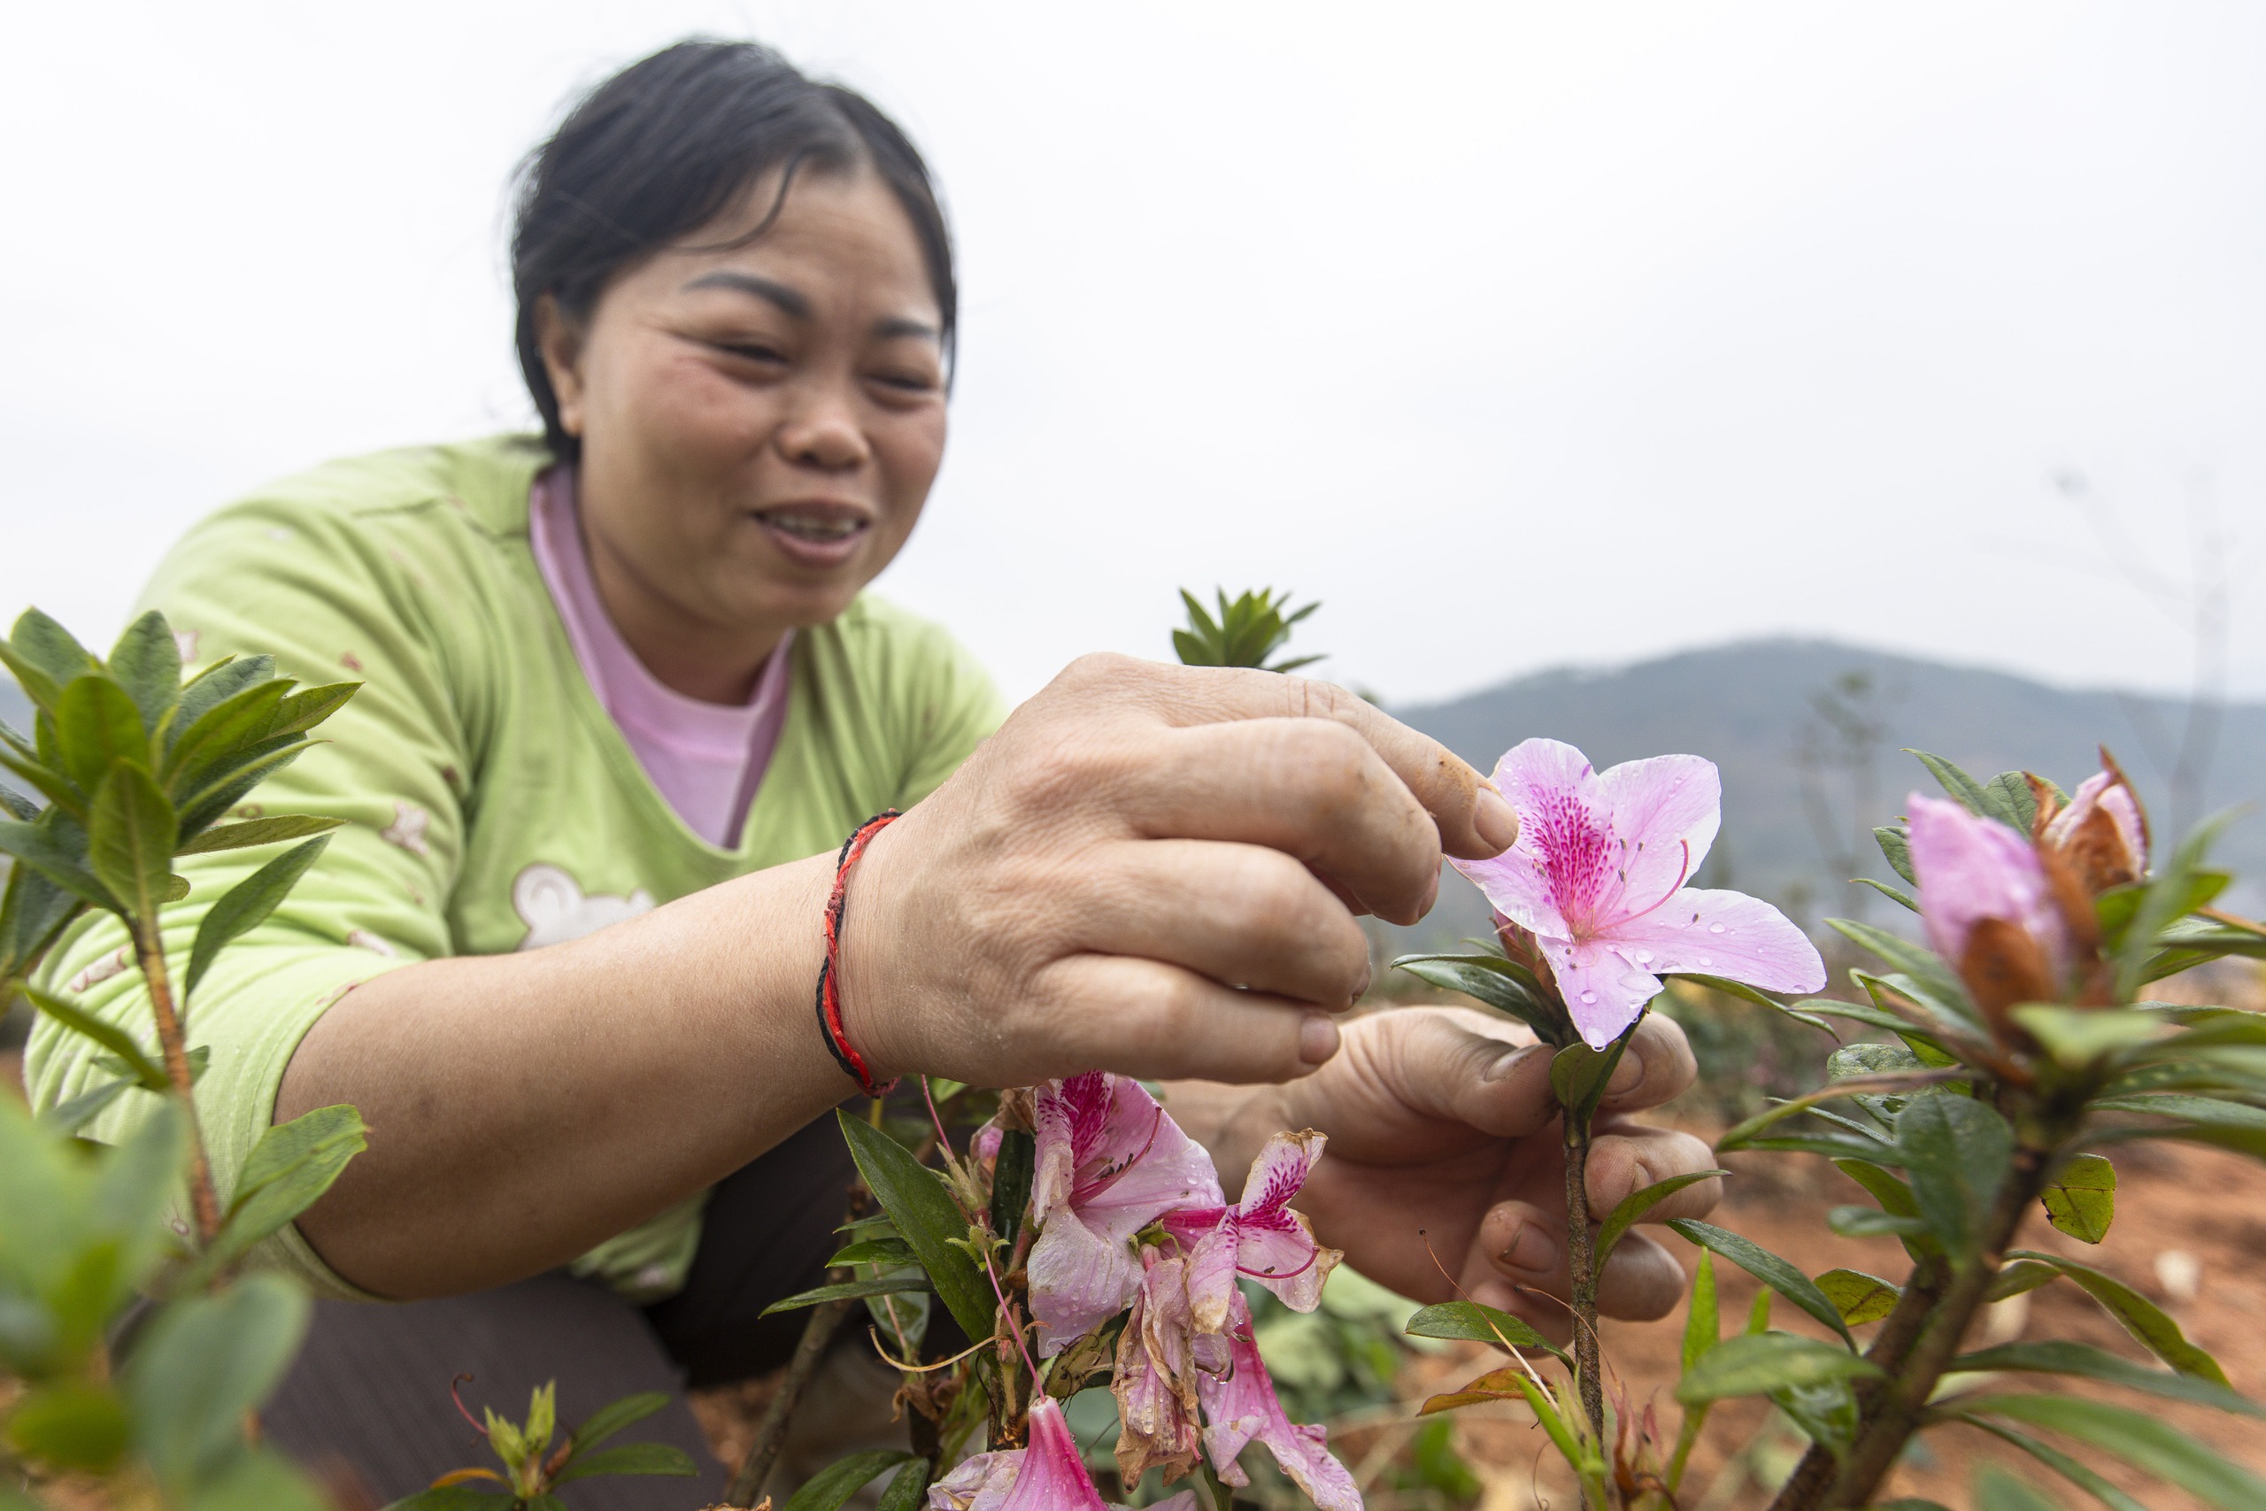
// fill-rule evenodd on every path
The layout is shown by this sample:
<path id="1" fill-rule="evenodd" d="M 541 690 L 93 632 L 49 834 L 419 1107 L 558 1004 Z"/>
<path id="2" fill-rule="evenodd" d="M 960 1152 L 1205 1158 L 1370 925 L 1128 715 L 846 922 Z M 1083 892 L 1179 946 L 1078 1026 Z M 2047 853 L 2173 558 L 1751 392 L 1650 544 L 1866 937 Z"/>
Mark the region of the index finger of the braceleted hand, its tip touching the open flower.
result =
<path id="1" fill-rule="evenodd" d="M 1088 657 L 1074 673 L 1119 689 L 1119 695 L 1133 686 L 1149 689 L 1151 711 L 1174 725 L 1235 718 L 1328 718 L 1348 725 L 1432 816 L 1441 850 L 1475 861 L 1502 854 L 1518 840 L 1518 816 L 1477 770 L 1341 686 L 1271 671 L 1162 666 L 1128 657 Z"/>

